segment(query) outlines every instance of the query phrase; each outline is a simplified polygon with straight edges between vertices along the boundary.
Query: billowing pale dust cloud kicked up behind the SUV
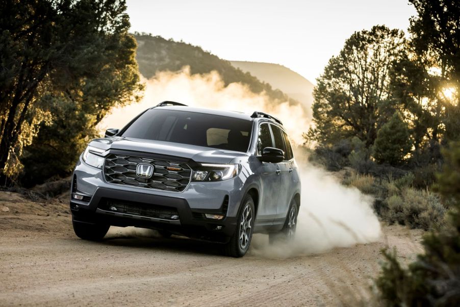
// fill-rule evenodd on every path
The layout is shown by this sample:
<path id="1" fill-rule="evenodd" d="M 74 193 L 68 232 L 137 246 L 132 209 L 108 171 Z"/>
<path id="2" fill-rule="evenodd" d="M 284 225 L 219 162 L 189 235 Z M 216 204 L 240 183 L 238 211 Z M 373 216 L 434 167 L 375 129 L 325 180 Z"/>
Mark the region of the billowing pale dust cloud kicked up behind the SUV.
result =
<path id="1" fill-rule="evenodd" d="M 177 101 L 189 106 L 224 109 L 252 113 L 264 111 L 278 117 L 296 145 L 303 143 L 302 133 L 308 130 L 311 119 L 300 105 L 273 101 L 264 92 L 255 94 L 246 85 L 224 85 L 217 72 L 190 74 L 188 67 L 180 72 L 161 72 L 143 80 L 144 98 L 113 110 L 100 123 L 101 131 L 121 128 L 143 110 L 162 101 Z M 268 236 L 257 234 L 249 254 L 264 257 L 292 257 L 320 253 L 335 247 L 370 243 L 380 237 L 380 224 L 371 209 L 372 199 L 356 188 L 343 186 L 332 174 L 307 162 L 301 147 L 296 160 L 302 179 L 302 195 L 296 236 L 291 242 L 268 244 Z M 137 231 L 137 232 L 136 232 Z M 150 232 L 133 229 L 111 232 L 112 235 L 149 235 Z"/>

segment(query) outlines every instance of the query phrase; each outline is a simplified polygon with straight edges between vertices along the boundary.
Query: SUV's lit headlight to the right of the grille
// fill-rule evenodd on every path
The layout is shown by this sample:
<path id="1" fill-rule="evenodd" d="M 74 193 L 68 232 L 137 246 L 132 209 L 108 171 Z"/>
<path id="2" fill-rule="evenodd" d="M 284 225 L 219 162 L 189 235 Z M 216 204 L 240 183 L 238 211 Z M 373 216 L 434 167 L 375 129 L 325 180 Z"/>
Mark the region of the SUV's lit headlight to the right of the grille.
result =
<path id="1" fill-rule="evenodd" d="M 238 175 L 240 164 L 201 163 L 199 170 L 193 171 L 192 181 L 221 181 Z"/>

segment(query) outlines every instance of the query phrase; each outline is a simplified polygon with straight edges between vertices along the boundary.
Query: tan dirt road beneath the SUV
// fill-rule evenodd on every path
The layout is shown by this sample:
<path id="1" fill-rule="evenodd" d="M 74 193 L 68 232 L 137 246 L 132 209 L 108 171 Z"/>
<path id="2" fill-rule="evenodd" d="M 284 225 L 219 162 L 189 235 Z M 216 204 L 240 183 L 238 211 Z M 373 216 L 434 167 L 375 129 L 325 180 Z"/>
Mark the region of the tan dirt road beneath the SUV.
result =
<path id="1" fill-rule="evenodd" d="M 0 306 L 354 305 L 369 299 L 380 249 L 395 246 L 409 261 L 421 251 L 422 234 L 387 226 L 376 243 L 235 259 L 208 243 L 119 232 L 99 243 L 80 240 L 64 201 L 0 192 Z"/>

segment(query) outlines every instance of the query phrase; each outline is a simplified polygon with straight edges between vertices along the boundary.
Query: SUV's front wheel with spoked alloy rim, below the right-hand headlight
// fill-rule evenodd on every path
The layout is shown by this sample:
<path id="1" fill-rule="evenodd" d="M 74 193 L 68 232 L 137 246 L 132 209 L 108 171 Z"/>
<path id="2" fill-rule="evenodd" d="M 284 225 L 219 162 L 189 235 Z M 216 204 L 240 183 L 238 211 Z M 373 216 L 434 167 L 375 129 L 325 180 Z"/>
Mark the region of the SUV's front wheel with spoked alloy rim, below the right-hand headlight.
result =
<path id="1" fill-rule="evenodd" d="M 242 257 L 251 244 L 254 230 L 254 201 L 246 195 L 238 212 L 237 225 L 230 241 L 225 245 L 225 253 L 232 257 Z"/>

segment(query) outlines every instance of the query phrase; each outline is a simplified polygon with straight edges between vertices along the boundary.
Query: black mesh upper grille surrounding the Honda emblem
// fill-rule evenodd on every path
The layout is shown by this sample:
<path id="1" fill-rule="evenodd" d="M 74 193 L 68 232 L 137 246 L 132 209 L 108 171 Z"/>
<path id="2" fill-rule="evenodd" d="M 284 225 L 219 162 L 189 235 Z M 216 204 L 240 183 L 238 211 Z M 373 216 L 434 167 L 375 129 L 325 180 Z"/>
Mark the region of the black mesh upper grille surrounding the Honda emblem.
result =
<path id="1" fill-rule="evenodd" d="M 152 164 L 154 174 L 150 178 L 137 176 L 139 163 Z M 167 167 L 180 170 L 168 170 Z M 104 176 L 109 183 L 182 192 L 190 182 L 192 169 L 188 164 L 180 162 L 109 154 L 104 163 Z"/>

